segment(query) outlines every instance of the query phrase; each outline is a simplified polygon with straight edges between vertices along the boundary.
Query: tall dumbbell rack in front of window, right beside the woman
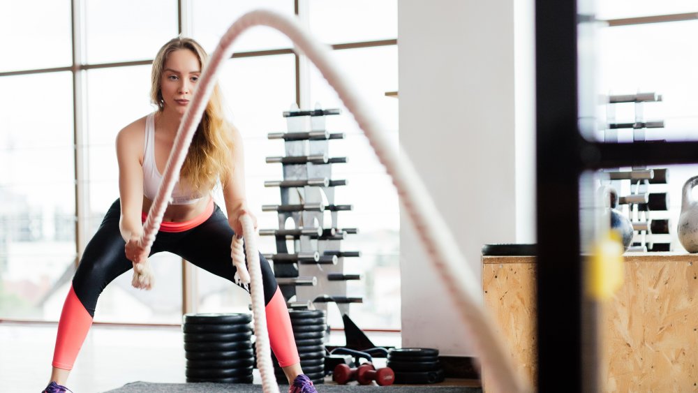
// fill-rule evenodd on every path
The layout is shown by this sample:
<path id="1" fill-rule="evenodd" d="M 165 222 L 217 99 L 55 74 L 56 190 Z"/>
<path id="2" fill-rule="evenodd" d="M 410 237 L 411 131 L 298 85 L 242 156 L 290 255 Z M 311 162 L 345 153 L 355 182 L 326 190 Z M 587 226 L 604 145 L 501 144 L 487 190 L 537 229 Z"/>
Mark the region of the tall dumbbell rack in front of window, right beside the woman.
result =
<path id="1" fill-rule="evenodd" d="M 277 212 L 279 229 L 260 230 L 260 235 L 276 238 L 276 253 L 265 257 L 274 265 L 274 275 L 290 309 L 311 308 L 327 311 L 336 303 L 348 316 L 349 304 L 362 303 L 361 297 L 347 296 L 347 281 L 359 274 L 344 274 L 344 260 L 359 257 L 359 251 L 341 251 L 341 241 L 357 233 L 356 228 L 339 228 L 339 212 L 352 205 L 335 204 L 335 187 L 346 180 L 332 179 L 332 164 L 346 163 L 346 157 L 329 157 L 329 140 L 341 140 L 344 133 L 329 133 L 327 116 L 339 109 L 299 110 L 295 104 L 284 112 L 288 132 L 269 133 L 270 140 L 283 140 L 285 156 L 267 157 L 267 163 L 283 165 L 283 180 L 265 181 L 266 187 L 279 187 L 281 205 L 265 205 L 262 211 Z M 325 213 L 329 211 L 329 220 Z M 292 225 L 289 225 L 289 221 Z M 289 228 L 291 227 L 291 228 Z M 290 252 L 287 241 L 292 241 Z"/>

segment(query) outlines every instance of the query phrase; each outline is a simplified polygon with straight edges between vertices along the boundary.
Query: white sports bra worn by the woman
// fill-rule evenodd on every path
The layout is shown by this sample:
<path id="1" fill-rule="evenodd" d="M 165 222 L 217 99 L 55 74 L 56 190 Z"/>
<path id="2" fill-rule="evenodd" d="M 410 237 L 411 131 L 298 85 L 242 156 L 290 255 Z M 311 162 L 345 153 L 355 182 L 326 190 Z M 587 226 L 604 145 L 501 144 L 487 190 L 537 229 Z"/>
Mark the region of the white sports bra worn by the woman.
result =
<path id="1" fill-rule="evenodd" d="M 155 163 L 155 113 L 145 118 L 145 147 L 143 149 L 143 194 L 149 200 L 155 200 L 155 195 L 163 182 Z M 201 195 L 191 195 L 188 190 L 181 189 L 179 181 L 174 184 L 170 205 L 191 205 L 201 200 Z"/>

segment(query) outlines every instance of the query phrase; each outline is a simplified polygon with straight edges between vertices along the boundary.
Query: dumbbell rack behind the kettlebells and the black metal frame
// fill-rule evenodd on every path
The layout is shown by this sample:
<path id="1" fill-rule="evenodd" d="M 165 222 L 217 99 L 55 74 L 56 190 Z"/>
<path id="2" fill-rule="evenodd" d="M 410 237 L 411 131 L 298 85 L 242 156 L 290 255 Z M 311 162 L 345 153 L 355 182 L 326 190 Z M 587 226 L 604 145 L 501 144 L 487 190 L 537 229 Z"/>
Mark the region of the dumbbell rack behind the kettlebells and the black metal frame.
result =
<path id="1" fill-rule="evenodd" d="M 621 142 L 619 132 L 627 129 L 632 131 L 632 142 L 650 142 L 646 138 L 649 128 L 664 128 L 663 120 L 646 121 L 644 105 L 662 101 L 662 96 L 656 93 L 638 93 L 611 95 L 607 105 L 607 129 L 604 131 L 604 142 Z M 634 121 L 621 122 L 616 119 L 617 104 L 632 103 Z M 630 140 L 628 140 L 630 142 Z M 664 142 L 655 140 L 652 142 Z M 669 194 L 667 193 L 667 168 L 647 168 L 634 166 L 630 170 L 606 170 L 610 185 L 618 195 L 619 205 L 634 229 L 632 246 L 628 251 L 656 252 L 671 251 L 671 241 L 663 239 L 670 233 L 671 225 L 668 218 Z M 662 188 L 664 188 L 662 190 Z M 663 192 L 657 192 L 663 191 Z M 663 216 L 663 218 L 662 218 Z"/>

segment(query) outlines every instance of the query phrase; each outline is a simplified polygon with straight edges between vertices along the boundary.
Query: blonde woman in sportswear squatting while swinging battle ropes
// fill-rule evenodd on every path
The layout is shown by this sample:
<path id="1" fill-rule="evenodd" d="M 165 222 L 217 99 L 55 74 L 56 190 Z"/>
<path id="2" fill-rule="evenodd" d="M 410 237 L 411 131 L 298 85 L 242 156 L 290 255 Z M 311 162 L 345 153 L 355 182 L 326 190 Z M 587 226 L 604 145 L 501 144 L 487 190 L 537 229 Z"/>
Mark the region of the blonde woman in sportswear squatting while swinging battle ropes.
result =
<path id="1" fill-rule="evenodd" d="M 151 248 L 138 244 L 179 123 L 207 59 L 202 47 L 190 38 L 174 38 L 166 43 L 151 73 L 151 100 L 158 109 L 117 135 L 120 198 L 107 211 L 77 267 L 61 313 L 51 382 L 45 392 L 66 391 L 63 385 L 87 336 L 99 294 L 131 269 L 133 262 L 169 251 L 213 274 L 235 280 L 230 244 L 235 233 L 242 233 L 240 216 L 251 213 L 245 200 L 242 138 L 223 117 L 218 86 L 193 137 L 154 244 Z M 211 189 L 219 179 L 227 217 L 211 199 Z M 269 263 L 261 255 L 260 259 L 274 355 L 289 380 L 290 392 L 315 392 L 313 383 L 302 374 L 281 290 Z"/>

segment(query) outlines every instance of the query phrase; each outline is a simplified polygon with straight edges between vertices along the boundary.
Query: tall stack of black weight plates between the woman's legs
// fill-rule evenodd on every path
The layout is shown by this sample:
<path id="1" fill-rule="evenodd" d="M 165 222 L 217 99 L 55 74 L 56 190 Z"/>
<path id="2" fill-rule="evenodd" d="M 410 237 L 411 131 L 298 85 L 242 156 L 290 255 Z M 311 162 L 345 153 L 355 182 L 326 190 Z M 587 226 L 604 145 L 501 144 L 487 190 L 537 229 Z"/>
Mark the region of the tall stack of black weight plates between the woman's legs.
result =
<path id="1" fill-rule="evenodd" d="M 186 382 L 252 383 L 250 314 L 184 315 Z"/>

